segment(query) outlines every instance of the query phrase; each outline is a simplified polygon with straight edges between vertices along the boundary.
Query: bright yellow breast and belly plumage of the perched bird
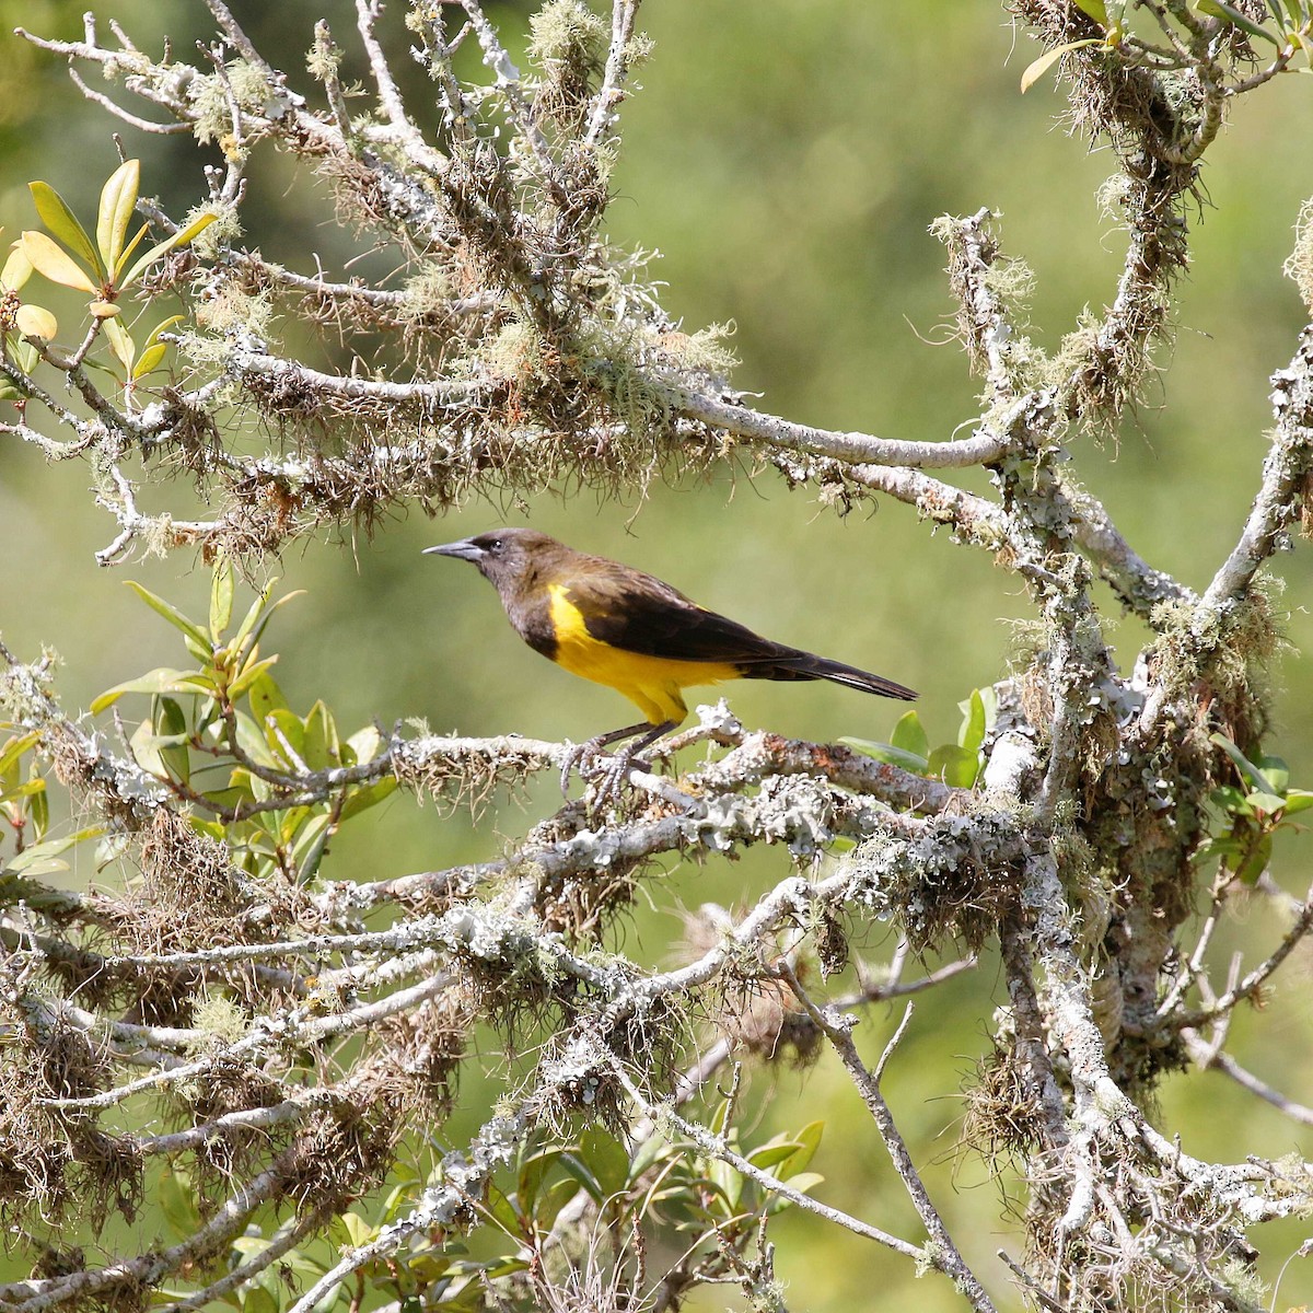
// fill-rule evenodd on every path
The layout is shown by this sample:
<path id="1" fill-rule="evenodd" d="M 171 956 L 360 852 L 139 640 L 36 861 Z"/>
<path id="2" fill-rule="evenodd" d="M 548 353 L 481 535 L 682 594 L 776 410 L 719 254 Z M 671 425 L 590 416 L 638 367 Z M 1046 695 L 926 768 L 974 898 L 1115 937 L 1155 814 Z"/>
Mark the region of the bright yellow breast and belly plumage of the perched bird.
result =
<path id="1" fill-rule="evenodd" d="M 737 666 L 721 662 L 671 660 L 643 653 L 626 653 L 599 642 L 588 633 L 588 626 L 578 607 L 567 597 L 565 584 L 549 584 L 551 595 L 551 624 L 555 630 L 557 650 L 553 659 L 571 675 L 607 684 L 624 693 L 651 725 L 681 721 L 688 708 L 680 696 L 681 688 L 695 684 L 720 684 L 738 679 Z"/>

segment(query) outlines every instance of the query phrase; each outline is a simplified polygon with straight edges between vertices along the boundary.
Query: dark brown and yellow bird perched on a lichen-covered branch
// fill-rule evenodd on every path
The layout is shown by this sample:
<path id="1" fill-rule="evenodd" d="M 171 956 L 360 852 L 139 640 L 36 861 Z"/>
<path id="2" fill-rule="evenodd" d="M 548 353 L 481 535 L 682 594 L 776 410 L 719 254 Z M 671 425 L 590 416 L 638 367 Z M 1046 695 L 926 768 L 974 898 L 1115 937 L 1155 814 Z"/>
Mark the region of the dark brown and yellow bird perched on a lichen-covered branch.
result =
<path id="1" fill-rule="evenodd" d="M 469 561 L 496 588 L 511 625 L 534 651 L 574 675 L 609 685 L 642 712 L 637 725 L 580 744 L 566 760 L 562 790 L 575 762 L 635 739 L 608 772 L 609 786 L 616 786 L 639 764 L 637 754 L 684 721 L 683 691 L 693 685 L 829 679 L 880 697 L 916 697 L 892 679 L 762 638 L 654 575 L 575 551 L 536 529 L 491 529 L 425 548 L 424 554 Z"/>

